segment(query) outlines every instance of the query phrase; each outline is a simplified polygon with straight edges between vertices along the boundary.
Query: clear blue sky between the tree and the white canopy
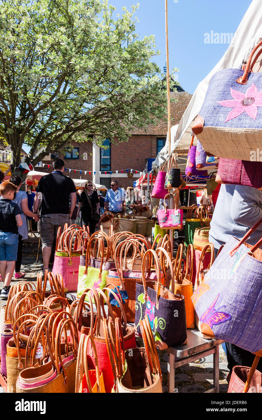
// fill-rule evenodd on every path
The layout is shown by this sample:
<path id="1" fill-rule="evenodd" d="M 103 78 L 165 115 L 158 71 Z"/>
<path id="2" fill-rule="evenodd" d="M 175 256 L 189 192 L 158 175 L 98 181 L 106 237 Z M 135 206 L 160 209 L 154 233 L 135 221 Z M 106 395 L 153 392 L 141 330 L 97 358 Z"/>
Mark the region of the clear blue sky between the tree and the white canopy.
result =
<path id="1" fill-rule="evenodd" d="M 136 3 L 109 0 L 120 14 L 123 6 L 130 10 Z M 140 0 L 138 3 L 136 32 L 140 37 L 155 35 L 161 55 L 153 60 L 163 70 L 166 63 L 165 1 Z M 251 0 L 168 0 L 169 68 L 179 68 L 178 81 L 185 91 L 193 94 L 228 48 L 229 44 L 204 43 L 204 34 L 211 31 L 234 34 L 250 4 Z"/>

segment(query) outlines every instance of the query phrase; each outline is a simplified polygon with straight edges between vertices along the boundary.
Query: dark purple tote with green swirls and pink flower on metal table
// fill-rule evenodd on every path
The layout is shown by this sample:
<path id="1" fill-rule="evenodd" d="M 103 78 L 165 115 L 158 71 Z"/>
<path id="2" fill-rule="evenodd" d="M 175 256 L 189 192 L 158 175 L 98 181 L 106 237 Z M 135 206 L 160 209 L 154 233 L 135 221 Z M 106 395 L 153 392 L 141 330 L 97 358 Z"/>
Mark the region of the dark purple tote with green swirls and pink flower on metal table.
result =
<path id="1" fill-rule="evenodd" d="M 136 283 L 135 328 L 141 333 L 139 321 L 148 317 L 156 346 L 165 349 L 183 344 L 187 340 L 185 298 L 174 294 L 174 270 L 169 255 L 162 247 L 158 248 L 158 252 L 164 252 L 169 261 L 171 292 L 162 286 L 158 255 L 153 249 L 149 249 L 142 260 L 142 282 Z M 154 257 L 157 281 L 146 280 L 145 264 L 148 254 Z"/>

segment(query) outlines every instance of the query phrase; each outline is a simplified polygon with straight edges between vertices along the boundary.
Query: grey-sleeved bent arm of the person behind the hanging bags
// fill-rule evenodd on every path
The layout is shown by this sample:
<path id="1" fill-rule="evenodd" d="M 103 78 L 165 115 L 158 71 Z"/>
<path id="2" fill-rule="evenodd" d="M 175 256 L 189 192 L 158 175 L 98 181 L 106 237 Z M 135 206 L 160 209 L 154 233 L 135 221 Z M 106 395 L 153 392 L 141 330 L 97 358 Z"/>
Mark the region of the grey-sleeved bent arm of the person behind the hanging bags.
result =
<path id="1" fill-rule="evenodd" d="M 231 218 L 251 228 L 262 218 L 262 192 L 249 186 L 237 185 L 230 207 Z M 262 231 L 262 224 L 257 230 Z"/>

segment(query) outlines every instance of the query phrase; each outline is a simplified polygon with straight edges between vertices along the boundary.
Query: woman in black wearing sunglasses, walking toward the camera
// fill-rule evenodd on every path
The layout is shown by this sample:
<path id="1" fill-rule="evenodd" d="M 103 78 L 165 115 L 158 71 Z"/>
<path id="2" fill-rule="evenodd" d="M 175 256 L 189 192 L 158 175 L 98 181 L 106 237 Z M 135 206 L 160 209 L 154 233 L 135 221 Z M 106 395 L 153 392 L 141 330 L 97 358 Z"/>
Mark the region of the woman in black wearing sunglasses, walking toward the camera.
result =
<path id="1" fill-rule="evenodd" d="M 92 181 L 87 181 L 85 184 L 85 189 L 82 192 L 77 210 L 77 218 L 79 213 L 82 210 L 82 226 L 89 226 L 90 235 L 95 231 L 95 223 L 97 218 L 99 220 L 99 198 L 95 190 L 93 190 Z"/>

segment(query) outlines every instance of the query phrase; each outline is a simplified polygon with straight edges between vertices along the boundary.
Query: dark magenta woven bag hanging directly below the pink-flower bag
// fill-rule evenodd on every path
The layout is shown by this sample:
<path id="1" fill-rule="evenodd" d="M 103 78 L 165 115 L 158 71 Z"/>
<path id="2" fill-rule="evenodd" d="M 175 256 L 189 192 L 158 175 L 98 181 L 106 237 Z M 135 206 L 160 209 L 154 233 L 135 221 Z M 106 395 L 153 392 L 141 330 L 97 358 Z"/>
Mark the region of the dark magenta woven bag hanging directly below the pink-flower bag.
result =
<path id="1" fill-rule="evenodd" d="M 262 189 L 262 162 L 221 157 L 216 182 L 219 184 L 246 185 Z"/>

